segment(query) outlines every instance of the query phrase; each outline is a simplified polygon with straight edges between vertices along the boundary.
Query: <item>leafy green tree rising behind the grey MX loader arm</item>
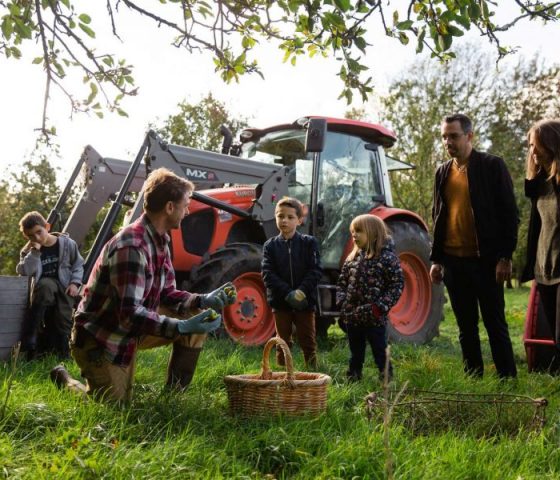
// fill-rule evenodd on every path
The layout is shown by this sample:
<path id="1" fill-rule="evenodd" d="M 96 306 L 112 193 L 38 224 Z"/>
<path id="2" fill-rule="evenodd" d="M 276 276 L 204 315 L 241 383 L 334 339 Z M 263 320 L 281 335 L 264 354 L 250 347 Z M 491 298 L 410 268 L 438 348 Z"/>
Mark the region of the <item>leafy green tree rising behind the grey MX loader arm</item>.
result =
<path id="1" fill-rule="evenodd" d="M 223 142 L 222 125 L 230 129 L 234 138 L 248 126 L 245 118 L 234 119 L 226 106 L 211 93 L 196 104 L 183 101 L 178 108 L 179 112 L 170 115 L 163 128 L 156 128 L 163 138 L 178 145 L 219 152 Z"/>

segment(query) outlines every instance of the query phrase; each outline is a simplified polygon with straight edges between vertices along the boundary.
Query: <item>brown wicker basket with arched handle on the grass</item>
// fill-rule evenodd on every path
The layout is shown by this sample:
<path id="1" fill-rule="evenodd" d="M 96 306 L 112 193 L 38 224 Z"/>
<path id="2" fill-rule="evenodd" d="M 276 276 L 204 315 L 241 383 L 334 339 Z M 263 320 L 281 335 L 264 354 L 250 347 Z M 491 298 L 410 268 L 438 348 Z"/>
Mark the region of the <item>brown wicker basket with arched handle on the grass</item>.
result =
<path id="1" fill-rule="evenodd" d="M 286 372 L 271 372 L 270 350 L 279 345 L 286 359 Z M 327 385 L 322 373 L 294 372 L 292 354 L 284 340 L 271 338 L 263 351 L 262 371 L 254 375 L 224 377 L 232 415 L 318 415 L 327 407 Z"/>

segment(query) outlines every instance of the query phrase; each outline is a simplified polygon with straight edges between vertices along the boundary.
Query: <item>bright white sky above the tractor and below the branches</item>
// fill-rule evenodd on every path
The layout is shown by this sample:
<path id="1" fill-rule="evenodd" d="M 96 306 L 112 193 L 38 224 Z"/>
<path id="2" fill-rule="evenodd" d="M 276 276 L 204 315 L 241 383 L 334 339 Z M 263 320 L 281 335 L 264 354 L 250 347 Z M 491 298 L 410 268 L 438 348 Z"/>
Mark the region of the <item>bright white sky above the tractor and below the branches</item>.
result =
<path id="1" fill-rule="evenodd" d="M 104 2 L 96 3 L 102 6 Z M 513 4 L 513 0 L 500 1 L 498 14 L 515 13 Z M 339 65 L 333 58 L 302 58 L 292 67 L 282 64 L 280 51 L 262 45 L 258 62 L 265 80 L 248 76 L 242 77 L 239 84 L 226 85 L 214 73 L 209 55 L 189 54 L 170 46 L 172 35 L 145 20 L 117 17 L 123 43 L 106 31 L 104 34 L 95 8 L 88 6 L 86 10 L 96 22 L 93 27 L 98 33 L 98 51 L 117 53 L 135 66 L 133 75 L 139 94 L 123 103 L 128 118 L 106 113 L 104 119 L 98 119 L 93 114 L 74 114 L 70 118 L 67 100 L 53 92 L 49 110 L 51 122 L 57 127 L 60 157 L 51 157 L 51 162 L 60 168 L 62 184 L 86 145 L 92 145 L 103 156 L 133 159 L 150 123 L 162 123 L 176 113 L 179 102 L 196 103 L 209 92 L 224 102 L 232 114 L 248 118 L 255 127 L 292 122 L 304 115 L 342 117 L 350 108 L 345 101 L 337 100 L 342 83 L 336 76 Z M 379 27 L 378 23 L 374 26 Z M 477 48 L 490 48 L 485 39 L 474 34 L 469 37 Z M 539 22 L 526 21 L 501 39 L 505 45 L 519 47 L 518 56 L 539 53 L 547 64 L 560 64 L 559 24 L 544 27 Z M 411 43 L 404 47 L 376 33 L 370 41 L 373 47 L 365 63 L 377 92 L 383 93 L 390 79 L 414 62 L 415 46 Z M 34 56 L 20 61 L 0 59 L 0 176 L 17 169 L 28 158 L 37 137 L 35 129 L 41 125 L 45 81 L 41 67 L 31 65 Z M 357 102 L 352 106 L 362 105 Z M 376 118 L 373 103 L 367 104 L 366 109 Z"/>

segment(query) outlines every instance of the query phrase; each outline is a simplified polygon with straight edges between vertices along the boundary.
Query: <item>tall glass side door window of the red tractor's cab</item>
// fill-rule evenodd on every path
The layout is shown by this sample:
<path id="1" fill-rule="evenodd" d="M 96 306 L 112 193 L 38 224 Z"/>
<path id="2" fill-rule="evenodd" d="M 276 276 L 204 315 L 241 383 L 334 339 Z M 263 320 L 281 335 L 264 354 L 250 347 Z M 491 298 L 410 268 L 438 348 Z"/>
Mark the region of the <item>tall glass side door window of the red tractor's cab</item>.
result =
<path id="1" fill-rule="evenodd" d="M 339 267 L 352 219 L 379 204 L 384 193 L 379 162 L 367 140 L 337 132 L 327 135 L 318 188 L 324 221 L 316 232 L 325 268 Z"/>

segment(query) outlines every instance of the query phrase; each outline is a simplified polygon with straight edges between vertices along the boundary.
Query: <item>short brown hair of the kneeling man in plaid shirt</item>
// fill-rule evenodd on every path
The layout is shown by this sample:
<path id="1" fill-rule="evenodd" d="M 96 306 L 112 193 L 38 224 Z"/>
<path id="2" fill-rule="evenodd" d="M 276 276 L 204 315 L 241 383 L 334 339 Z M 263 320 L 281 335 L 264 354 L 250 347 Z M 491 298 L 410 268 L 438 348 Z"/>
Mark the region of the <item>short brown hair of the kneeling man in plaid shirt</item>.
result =
<path id="1" fill-rule="evenodd" d="M 144 183 L 144 210 L 160 212 L 167 202 L 179 202 L 185 194 L 194 191 L 194 184 L 175 175 L 167 168 L 154 170 Z"/>

